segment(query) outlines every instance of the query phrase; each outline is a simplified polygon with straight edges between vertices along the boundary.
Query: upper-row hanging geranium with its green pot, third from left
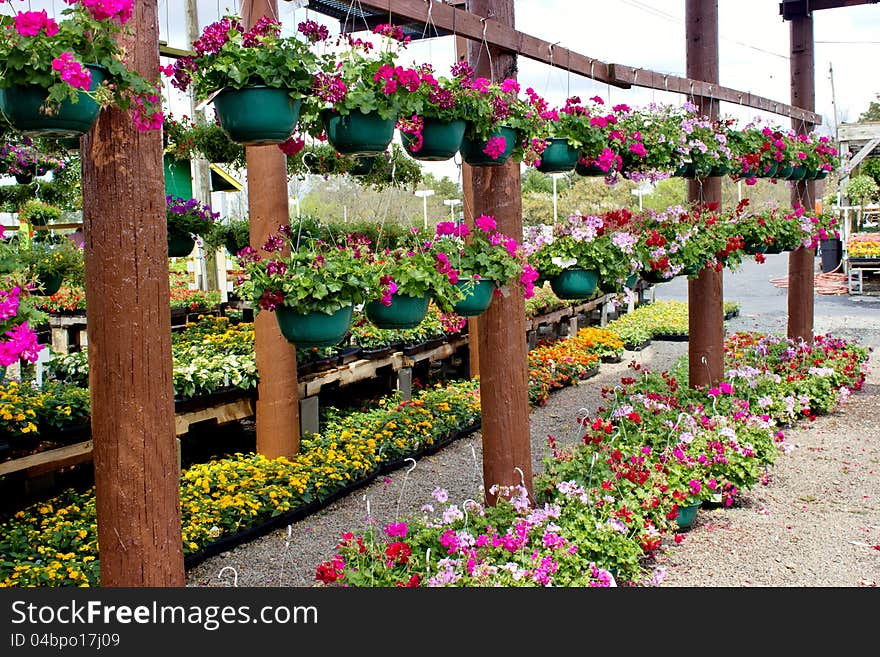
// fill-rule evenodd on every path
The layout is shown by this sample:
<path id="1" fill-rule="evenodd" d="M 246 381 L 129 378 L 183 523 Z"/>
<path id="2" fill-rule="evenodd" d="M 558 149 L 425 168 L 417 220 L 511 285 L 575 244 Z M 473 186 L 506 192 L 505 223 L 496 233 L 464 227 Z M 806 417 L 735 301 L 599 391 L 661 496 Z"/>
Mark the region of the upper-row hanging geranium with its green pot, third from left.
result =
<path id="1" fill-rule="evenodd" d="M 307 130 L 314 137 L 326 135 L 343 155 L 383 153 L 398 117 L 412 114 L 412 96 L 422 84 L 417 69 L 396 63 L 397 48 L 407 42 L 403 31 L 379 25 L 374 33 L 385 37 L 382 48 L 348 35 L 340 37 L 347 50 L 339 58 L 324 56 L 312 81 Z"/>

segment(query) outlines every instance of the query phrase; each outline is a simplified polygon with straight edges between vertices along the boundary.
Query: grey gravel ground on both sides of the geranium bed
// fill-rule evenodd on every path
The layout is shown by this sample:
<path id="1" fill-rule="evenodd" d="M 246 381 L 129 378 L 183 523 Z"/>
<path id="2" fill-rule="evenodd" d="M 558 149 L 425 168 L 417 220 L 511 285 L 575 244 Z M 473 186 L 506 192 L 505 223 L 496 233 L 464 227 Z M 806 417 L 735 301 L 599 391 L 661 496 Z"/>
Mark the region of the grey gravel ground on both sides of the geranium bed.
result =
<path id="1" fill-rule="evenodd" d="M 769 260 L 769 259 L 768 259 Z M 782 261 L 774 261 L 776 269 Z M 774 262 L 770 264 L 773 265 Z M 766 273 L 746 265 L 726 276 L 728 298 L 741 301 L 728 331 L 785 331 L 785 291 L 768 286 Z M 760 283 L 757 285 L 756 281 Z M 767 290 L 767 288 L 770 288 Z M 657 299 L 686 298 L 682 283 L 657 288 Z M 757 290 L 757 292 L 756 292 Z M 816 332 L 832 331 L 880 347 L 880 303 L 869 297 L 816 300 Z M 580 408 L 594 411 L 602 387 L 612 387 L 630 360 L 650 369 L 669 367 L 687 353 L 687 343 L 653 342 L 626 352 L 623 362 L 602 364 L 600 373 L 551 395 L 531 413 L 533 468 L 540 471 L 548 434 L 575 438 Z M 880 377 L 870 374 L 865 390 L 842 411 L 787 432 L 795 448 L 781 455 L 763 485 L 728 509 L 702 509 L 693 528 L 676 544 L 668 541 L 652 568 L 662 568 L 662 586 L 855 587 L 880 582 Z M 315 567 L 330 558 L 343 531 L 363 529 L 366 517 L 384 524 L 417 513 L 436 486 L 450 499 L 480 499 L 480 434 L 457 441 L 418 462 L 379 478 L 324 511 L 211 558 L 188 572 L 189 586 L 228 586 L 232 566 L 239 586 L 312 586 Z"/>

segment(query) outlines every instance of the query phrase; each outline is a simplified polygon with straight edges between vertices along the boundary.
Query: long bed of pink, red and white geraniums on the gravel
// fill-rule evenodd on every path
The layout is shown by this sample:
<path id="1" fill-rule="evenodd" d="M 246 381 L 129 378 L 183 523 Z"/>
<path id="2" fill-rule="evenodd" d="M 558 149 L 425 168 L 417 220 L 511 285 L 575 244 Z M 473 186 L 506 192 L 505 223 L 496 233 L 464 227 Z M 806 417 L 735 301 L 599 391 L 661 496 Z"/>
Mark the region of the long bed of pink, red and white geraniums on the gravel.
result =
<path id="1" fill-rule="evenodd" d="M 811 347 L 738 334 L 727 347 L 729 380 L 718 389 L 681 388 L 675 372 L 686 364 L 662 374 L 634 365 L 622 389 L 606 391 L 609 408 L 582 418 L 579 441 L 561 446 L 550 437 L 534 506 L 519 486 L 496 488 L 502 499 L 495 508 L 459 507 L 436 489 L 443 506 L 426 505 L 423 517 L 343 533 L 316 579 L 347 586 L 656 583 L 659 572 L 646 567 L 664 536 L 680 529 L 682 510 L 715 499 L 733 504 L 787 448 L 774 414 L 750 410 L 755 377 L 776 381 L 776 372 L 789 372 L 811 412 L 830 411 L 864 380 L 866 351 L 830 336 Z M 830 387 L 817 392 L 817 381 Z M 784 386 L 766 392 L 774 409 L 791 395 Z"/>

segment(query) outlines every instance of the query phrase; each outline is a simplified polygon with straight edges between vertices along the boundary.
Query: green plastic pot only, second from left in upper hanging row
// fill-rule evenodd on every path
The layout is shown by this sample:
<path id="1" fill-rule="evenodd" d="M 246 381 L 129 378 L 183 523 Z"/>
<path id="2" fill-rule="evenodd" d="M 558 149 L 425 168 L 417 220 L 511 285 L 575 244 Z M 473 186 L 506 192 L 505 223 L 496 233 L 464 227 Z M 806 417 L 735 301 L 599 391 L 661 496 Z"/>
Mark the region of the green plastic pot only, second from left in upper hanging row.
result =
<path id="1" fill-rule="evenodd" d="M 296 130 L 302 100 L 288 89 L 255 85 L 226 88 L 214 97 L 220 127 L 239 144 L 280 144 Z"/>

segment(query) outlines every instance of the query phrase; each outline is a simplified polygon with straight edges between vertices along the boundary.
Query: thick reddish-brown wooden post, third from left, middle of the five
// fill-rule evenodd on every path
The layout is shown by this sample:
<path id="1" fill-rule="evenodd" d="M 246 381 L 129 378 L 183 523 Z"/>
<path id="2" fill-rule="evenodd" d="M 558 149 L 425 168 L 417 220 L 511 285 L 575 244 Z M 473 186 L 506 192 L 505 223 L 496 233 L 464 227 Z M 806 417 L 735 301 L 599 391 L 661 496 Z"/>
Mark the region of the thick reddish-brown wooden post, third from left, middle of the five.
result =
<path id="1" fill-rule="evenodd" d="M 513 26 L 513 0 L 471 0 L 469 8 Z M 495 81 L 516 77 L 516 56 L 481 43 L 468 44 L 468 60 L 478 76 Z M 491 68 L 490 68 L 491 61 Z M 493 215 L 498 230 L 522 240 L 522 188 L 519 163 L 471 167 L 473 213 Z M 519 286 L 496 297 L 479 322 L 480 396 L 483 407 L 483 481 L 486 501 L 494 484 L 524 483 L 531 494 L 532 454 L 529 433 L 528 362 L 525 304 Z"/>

